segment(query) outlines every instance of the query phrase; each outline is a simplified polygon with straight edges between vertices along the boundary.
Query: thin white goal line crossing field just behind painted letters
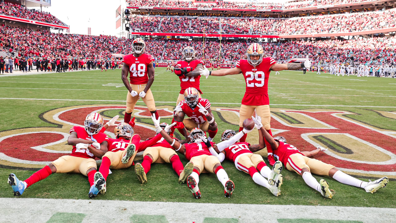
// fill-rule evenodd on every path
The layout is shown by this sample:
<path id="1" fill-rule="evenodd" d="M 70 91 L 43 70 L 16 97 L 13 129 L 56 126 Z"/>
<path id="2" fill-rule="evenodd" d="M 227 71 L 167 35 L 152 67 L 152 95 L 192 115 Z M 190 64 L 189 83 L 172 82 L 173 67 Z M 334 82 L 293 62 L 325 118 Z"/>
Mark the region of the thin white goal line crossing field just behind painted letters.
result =
<path id="1" fill-rule="evenodd" d="M 86 99 L 50 99 L 50 98 L 0 98 L 10 100 L 48 100 L 48 101 L 84 101 L 84 102 L 125 102 L 125 100 L 86 100 Z M 138 101 L 137 103 L 139 103 Z M 155 103 L 175 103 L 175 102 L 155 102 Z M 238 104 L 210 102 L 210 104 Z M 360 106 L 360 105 L 314 105 L 314 104 L 270 104 L 271 106 L 318 106 L 318 107 L 361 107 L 361 108 L 396 108 L 395 106 Z"/>

